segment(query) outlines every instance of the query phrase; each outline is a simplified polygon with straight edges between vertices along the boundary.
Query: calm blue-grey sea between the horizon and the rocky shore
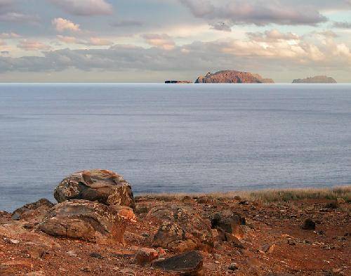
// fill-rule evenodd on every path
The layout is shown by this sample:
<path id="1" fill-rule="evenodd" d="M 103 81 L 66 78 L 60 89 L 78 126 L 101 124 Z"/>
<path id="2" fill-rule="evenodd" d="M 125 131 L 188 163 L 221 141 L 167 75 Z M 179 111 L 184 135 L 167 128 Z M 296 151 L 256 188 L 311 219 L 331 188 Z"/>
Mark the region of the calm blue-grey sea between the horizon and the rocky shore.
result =
<path id="1" fill-rule="evenodd" d="M 0 210 L 93 168 L 136 194 L 351 184 L 351 85 L 0 85 Z"/>

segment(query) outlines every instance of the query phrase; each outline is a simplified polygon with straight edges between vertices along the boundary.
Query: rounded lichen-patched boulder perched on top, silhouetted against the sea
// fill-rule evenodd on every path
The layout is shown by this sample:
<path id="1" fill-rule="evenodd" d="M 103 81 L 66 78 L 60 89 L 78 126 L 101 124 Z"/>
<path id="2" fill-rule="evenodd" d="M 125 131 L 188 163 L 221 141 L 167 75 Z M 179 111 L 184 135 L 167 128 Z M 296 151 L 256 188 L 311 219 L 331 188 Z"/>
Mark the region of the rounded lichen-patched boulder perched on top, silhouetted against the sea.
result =
<path id="1" fill-rule="evenodd" d="M 134 207 L 131 185 L 113 171 L 88 170 L 72 173 L 55 188 L 58 202 L 69 199 L 86 199 L 107 205 Z"/>

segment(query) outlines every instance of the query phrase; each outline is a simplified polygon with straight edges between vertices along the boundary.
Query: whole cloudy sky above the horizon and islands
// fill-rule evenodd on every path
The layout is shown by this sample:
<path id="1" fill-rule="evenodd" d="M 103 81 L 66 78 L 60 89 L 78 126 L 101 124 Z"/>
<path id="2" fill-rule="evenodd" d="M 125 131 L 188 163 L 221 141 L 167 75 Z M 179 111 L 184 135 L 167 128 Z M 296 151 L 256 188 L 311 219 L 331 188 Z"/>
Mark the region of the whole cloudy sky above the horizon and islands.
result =
<path id="1" fill-rule="evenodd" d="M 351 82 L 351 0 L 0 0 L 1 82 Z"/>

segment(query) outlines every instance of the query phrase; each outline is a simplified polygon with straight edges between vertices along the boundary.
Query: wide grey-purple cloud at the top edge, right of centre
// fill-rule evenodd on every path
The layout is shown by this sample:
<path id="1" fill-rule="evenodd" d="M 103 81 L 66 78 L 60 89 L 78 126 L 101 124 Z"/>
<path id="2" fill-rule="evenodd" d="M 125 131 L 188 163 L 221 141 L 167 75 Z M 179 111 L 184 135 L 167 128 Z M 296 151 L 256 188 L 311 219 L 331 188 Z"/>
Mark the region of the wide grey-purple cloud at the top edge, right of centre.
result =
<path id="1" fill-rule="evenodd" d="M 284 0 L 179 0 L 192 14 L 210 25 L 218 20 L 227 26 L 317 25 L 327 18 L 315 6 L 291 4 Z M 215 22 L 215 23 L 213 23 Z M 227 28 L 225 28 L 227 30 Z"/>

